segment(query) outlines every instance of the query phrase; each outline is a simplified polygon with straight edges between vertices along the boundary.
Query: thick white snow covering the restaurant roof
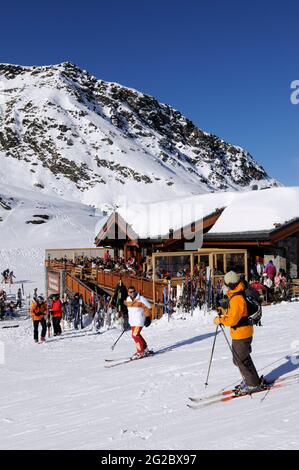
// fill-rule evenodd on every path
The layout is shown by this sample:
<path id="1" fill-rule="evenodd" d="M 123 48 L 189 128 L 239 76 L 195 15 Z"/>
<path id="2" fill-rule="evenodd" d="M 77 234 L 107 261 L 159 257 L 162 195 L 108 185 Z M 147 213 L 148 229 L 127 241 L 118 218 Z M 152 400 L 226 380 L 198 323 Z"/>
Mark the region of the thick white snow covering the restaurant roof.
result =
<path id="1" fill-rule="evenodd" d="M 272 231 L 299 217 L 299 187 L 201 194 L 153 204 L 130 204 L 117 213 L 142 239 L 168 235 L 224 209 L 210 234 Z M 97 227 L 101 231 L 109 216 Z"/>

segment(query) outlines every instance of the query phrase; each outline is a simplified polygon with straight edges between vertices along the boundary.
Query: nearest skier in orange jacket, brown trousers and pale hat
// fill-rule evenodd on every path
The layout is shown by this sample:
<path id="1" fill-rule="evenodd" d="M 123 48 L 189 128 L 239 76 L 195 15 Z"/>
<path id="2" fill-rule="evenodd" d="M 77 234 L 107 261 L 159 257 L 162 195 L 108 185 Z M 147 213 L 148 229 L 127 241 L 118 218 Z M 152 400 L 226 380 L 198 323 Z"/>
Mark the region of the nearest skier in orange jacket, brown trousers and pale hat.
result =
<path id="1" fill-rule="evenodd" d="M 228 307 L 223 315 L 214 319 L 214 323 L 230 326 L 233 363 L 241 372 L 246 391 L 252 393 L 260 389 L 261 380 L 250 356 L 253 326 L 249 325 L 247 320 L 248 312 L 244 297 L 244 284 L 240 281 L 240 276 L 234 271 L 225 274 L 224 282 L 229 288 L 227 291 Z"/>

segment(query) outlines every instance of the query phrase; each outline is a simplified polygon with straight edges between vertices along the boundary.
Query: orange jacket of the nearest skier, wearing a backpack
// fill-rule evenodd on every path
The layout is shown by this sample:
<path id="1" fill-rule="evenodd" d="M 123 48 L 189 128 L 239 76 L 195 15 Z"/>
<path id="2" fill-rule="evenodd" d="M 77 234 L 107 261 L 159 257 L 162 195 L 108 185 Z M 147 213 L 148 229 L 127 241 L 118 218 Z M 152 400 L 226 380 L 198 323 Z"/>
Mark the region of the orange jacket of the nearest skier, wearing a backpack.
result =
<path id="1" fill-rule="evenodd" d="M 227 291 L 227 295 L 230 298 L 229 306 L 226 313 L 219 320 L 219 323 L 222 325 L 231 327 L 230 335 L 232 339 L 251 338 L 253 335 L 253 326 L 251 325 L 240 326 L 236 329 L 232 328 L 242 317 L 247 317 L 247 305 L 244 297 L 242 295 L 233 297 L 233 294 L 244 290 L 244 285 L 240 282 L 235 289 Z"/>

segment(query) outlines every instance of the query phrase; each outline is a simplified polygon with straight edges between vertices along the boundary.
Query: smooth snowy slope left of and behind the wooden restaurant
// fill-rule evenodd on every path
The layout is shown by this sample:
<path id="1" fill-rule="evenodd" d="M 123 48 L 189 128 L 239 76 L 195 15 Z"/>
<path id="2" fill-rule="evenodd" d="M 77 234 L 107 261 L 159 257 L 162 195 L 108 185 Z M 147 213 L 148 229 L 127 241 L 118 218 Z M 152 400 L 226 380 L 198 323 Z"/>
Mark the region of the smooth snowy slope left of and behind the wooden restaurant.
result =
<path id="1" fill-rule="evenodd" d="M 10 268 L 25 284 L 31 280 L 26 289 L 44 291 L 45 248 L 92 246 L 100 218 L 94 208 L 84 204 L 2 184 L 1 272 Z"/>

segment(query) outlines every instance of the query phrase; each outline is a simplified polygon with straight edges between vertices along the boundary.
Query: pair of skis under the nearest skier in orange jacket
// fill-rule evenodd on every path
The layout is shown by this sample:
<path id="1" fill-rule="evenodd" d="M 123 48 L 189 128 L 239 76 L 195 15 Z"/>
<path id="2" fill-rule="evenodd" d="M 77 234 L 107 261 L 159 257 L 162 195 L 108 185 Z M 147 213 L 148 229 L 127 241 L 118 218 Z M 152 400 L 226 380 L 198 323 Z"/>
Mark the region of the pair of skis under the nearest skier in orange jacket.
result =
<path id="1" fill-rule="evenodd" d="M 269 384 L 269 386 L 265 387 L 262 390 L 258 390 L 256 392 L 242 393 L 238 395 L 238 394 L 235 394 L 234 392 L 231 392 L 230 390 L 226 390 L 224 391 L 225 394 L 223 394 L 222 392 L 221 394 L 218 394 L 218 396 L 215 394 L 214 396 L 212 395 L 210 397 L 204 397 L 201 401 L 194 401 L 193 399 L 192 404 L 188 403 L 187 406 L 188 408 L 197 410 L 197 409 L 210 406 L 216 403 L 228 402 L 236 398 L 242 398 L 242 397 L 248 397 L 248 396 L 251 397 L 252 395 L 262 393 L 262 392 L 267 393 L 277 388 L 285 387 L 288 385 L 293 385 L 294 383 L 299 383 L 298 374 L 294 374 L 292 376 L 281 378 L 281 379 L 278 378 L 272 384 Z"/>

